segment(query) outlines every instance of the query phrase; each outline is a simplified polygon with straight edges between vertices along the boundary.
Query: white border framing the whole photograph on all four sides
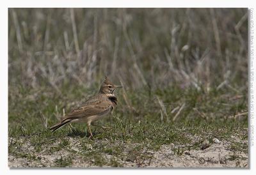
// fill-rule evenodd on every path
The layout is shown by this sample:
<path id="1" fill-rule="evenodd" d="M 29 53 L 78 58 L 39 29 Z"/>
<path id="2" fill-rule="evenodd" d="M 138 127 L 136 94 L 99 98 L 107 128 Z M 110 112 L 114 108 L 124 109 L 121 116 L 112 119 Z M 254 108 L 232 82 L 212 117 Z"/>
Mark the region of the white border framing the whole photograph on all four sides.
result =
<path id="1" fill-rule="evenodd" d="M 140 169 L 134 169 L 134 170 L 95 170 L 95 169 L 79 169 L 79 170 L 67 170 L 67 169 L 60 169 L 58 171 L 56 170 L 43 170 L 38 171 L 37 169 L 26 169 L 26 170 L 12 170 L 8 168 L 8 8 L 12 7 L 44 7 L 44 8 L 50 8 L 50 7 L 76 7 L 76 8 L 82 8 L 82 7 L 115 7 L 115 8 L 122 8 L 122 7 L 140 7 L 140 8 L 148 8 L 148 7 L 173 7 L 173 8 L 185 8 L 185 7 L 214 7 L 214 8 L 252 8 L 253 7 L 253 1 L 239 1 L 239 0 L 215 0 L 215 1 L 209 1 L 209 0 L 179 0 L 179 1 L 170 1 L 170 0 L 127 0 L 127 1 L 121 1 L 121 0 L 98 0 L 98 1 L 89 1 L 89 0 L 9 0 L 4 1 L 2 0 L 0 2 L 0 24 L 1 24 L 1 32 L 0 32 L 0 54 L 1 54 L 1 62 L 0 62 L 0 79 L 1 79 L 1 89 L 0 89 L 0 115 L 1 115 L 1 122 L 0 122 L 0 173 L 1 174 L 70 174 L 74 171 L 76 175 L 78 174 L 155 174 L 158 171 L 161 171 L 161 174 L 170 174 L 170 173 L 181 173 L 181 174 L 216 174 L 216 173 L 225 173 L 225 174 L 255 174 L 256 171 L 256 139 L 255 134 L 253 136 L 253 146 L 250 148 L 250 171 L 245 170 L 210 170 L 210 169 L 200 169 L 200 170 L 191 170 L 191 169 L 164 169 L 164 170 L 143 170 Z M 254 22 L 254 38 L 253 38 L 253 56 L 255 57 L 255 24 L 256 24 L 256 9 L 253 10 L 253 22 Z M 251 29 L 252 30 L 252 29 Z M 249 62 L 250 63 L 250 62 Z M 251 69 L 256 70 L 256 62 L 253 59 L 253 65 Z M 251 84 L 251 88 L 256 88 L 256 74 L 254 73 L 253 82 Z M 251 93 L 253 97 L 255 98 L 255 91 Z M 253 99 L 254 99 L 253 98 Z M 256 100 L 256 98 L 255 98 Z M 253 110 L 251 111 L 251 114 L 255 113 L 255 100 L 253 100 Z M 252 105 L 252 104 L 251 104 Z M 252 116 L 250 116 L 252 117 Z M 250 131 L 250 133 L 256 133 L 256 122 L 255 117 L 251 121 L 251 125 L 253 125 L 253 130 Z M 122 172 L 121 172 L 122 171 Z M 132 171 L 132 172 L 131 172 Z M 217 171 L 217 172 L 216 172 Z"/>

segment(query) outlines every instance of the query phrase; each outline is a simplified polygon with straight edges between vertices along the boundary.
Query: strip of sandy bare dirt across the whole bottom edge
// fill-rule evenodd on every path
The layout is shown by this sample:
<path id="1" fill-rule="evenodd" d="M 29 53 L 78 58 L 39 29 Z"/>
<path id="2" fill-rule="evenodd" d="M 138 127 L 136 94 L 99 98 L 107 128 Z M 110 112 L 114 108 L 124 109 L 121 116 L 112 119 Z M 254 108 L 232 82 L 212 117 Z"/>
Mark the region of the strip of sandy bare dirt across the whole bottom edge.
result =
<path id="1" fill-rule="evenodd" d="M 10 139 L 13 141 L 13 139 Z M 248 168 L 248 154 L 232 151 L 227 142 L 216 141 L 202 150 L 190 149 L 175 151 L 181 148 L 174 144 L 163 145 L 158 151 L 143 149 L 141 153 L 132 152 L 135 144 L 124 144 L 121 155 L 99 151 L 98 156 L 91 158 L 83 153 L 94 151 L 91 144 L 83 145 L 77 139 L 69 138 L 70 146 L 52 151 L 61 139 L 51 146 L 43 146 L 42 151 L 36 151 L 35 146 L 26 139 L 22 142 L 19 153 L 10 153 L 9 167 L 245 167 Z M 16 142 L 17 142 L 16 141 Z M 108 141 L 100 141 L 105 142 Z M 120 143 L 116 143 L 120 144 Z M 72 145 L 72 146 L 71 146 Z M 115 144 L 112 144 L 113 148 Z M 103 150 L 103 149 L 102 149 Z M 143 156 L 141 156 L 143 155 Z M 99 164 L 99 162 L 101 163 Z M 114 162 L 114 163 L 113 163 Z"/>

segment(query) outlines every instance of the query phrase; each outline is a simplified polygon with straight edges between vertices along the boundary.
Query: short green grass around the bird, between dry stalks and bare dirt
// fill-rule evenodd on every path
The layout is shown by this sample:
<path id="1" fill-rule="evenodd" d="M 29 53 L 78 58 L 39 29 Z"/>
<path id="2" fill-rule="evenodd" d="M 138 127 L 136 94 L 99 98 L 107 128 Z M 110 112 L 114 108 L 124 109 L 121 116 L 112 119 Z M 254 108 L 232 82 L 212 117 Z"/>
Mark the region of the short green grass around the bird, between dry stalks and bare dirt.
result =
<path id="1" fill-rule="evenodd" d="M 74 91 L 72 88 L 79 90 L 70 93 Z M 33 89 L 24 91 L 20 88 L 20 92 L 16 92 L 19 98 L 15 94 L 9 96 L 9 137 L 12 138 L 9 154 L 17 158 L 36 160 L 38 153 L 51 155 L 67 151 L 70 155 L 56 158 L 52 166 L 72 166 L 73 158 L 79 157 L 90 165 L 100 167 L 122 167 L 122 161 L 136 162 L 140 167 L 152 158 L 150 151 L 158 151 L 161 146 L 174 144 L 172 151 L 180 156 L 184 151 L 200 149 L 205 139 L 212 144 L 215 137 L 228 142 L 229 149 L 233 151 L 248 152 L 247 117 L 228 118 L 247 110 L 246 95 L 232 101 L 230 99 L 237 94 L 227 91 L 211 91 L 206 94 L 196 89 L 184 91 L 170 87 L 152 91 L 151 96 L 147 96 L 147 91 L 135 91 L 127 93 L 134 107 L 131 110 L 125 105 L 122 91 L 119 91 L 119 103 L 113 115 L 97 121 L 99 125 L 111 127 L 111 130 L 93 128 L 95 138 L 91 140 L 85 124 L 64 126 L 51 133 L 45 123 L 47 127 L 54 125 L 58 122 L 56 116 L 61 116 L 63 108 L 68 111 L 73 105 L 71 102 L 83 102 L 82 94 L 92 92 L 92 89 L 71 86 L 70 89 L 63 89 L 63 96 L 49 95 L 50 89 L 36 93 Z M 163 119 L 163 109 L 156 96 L 163 100 L 166 107 L 167 116 Z M 186 106 L 177 119 L 172 121 L 177 114 L 172 113 L 172 109 L 184 102 Z M 198 111 L 202 114 L 198 114 Z M 29 144 L 33 151 L 26 153 L 20 149 L 24 144 Z M 74 144 L 78 144 L 75 146 L 78 150 L 73 149 Z M 106 155 L 111 156 L 111 159 L 104 157 Z"/>

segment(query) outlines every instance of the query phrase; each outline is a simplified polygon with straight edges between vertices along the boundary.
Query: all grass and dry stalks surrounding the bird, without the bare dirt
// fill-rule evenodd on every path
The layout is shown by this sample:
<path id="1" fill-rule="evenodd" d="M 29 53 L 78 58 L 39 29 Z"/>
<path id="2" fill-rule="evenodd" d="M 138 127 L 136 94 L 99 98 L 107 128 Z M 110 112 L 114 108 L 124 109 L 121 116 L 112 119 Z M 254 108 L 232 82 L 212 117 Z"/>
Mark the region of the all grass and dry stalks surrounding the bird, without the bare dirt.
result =
<path id="1" fill-rule="evenodd" d="M 248 155 L 245 8 L 8 15 L 8 150 L 28 161 L 16 166 L 156 166 L 157 154 L 186 156 L 214 138 L 234 153 L 228 160 Z M 111 130 L 93 127 L 93 140 L 85 124 L 49 132 L 104 75 L 124 86 L 113 115 L 97 121 Z"/>

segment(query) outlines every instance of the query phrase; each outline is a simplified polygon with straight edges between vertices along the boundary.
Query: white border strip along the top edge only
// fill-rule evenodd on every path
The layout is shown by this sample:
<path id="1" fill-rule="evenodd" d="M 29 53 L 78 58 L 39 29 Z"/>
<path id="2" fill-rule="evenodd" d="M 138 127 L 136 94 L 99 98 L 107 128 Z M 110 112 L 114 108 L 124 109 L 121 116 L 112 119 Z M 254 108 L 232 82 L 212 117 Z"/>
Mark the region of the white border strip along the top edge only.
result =
<path id="1" fill-rule="evenodd" d="M 173 8 L 185 8 L 185 7 L 212 7 L 212 8 L 248 8 L 253 7 L 253 1 L 248 0 L 214 0 L 214 1 L 205 1 L 205 0 L 179 0 L 179 1 L 170 1 L 170 0 L 44 0 L 44 1 L 34 1 L 34 0 L 9 0 L 4 2 L 5 6 L 8 7 L 113 7 L 113 8 L 150 8 L 150 7 L 173 7 Z"/>

